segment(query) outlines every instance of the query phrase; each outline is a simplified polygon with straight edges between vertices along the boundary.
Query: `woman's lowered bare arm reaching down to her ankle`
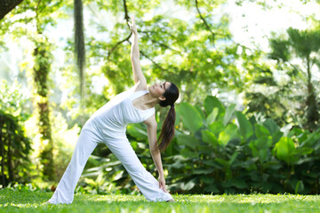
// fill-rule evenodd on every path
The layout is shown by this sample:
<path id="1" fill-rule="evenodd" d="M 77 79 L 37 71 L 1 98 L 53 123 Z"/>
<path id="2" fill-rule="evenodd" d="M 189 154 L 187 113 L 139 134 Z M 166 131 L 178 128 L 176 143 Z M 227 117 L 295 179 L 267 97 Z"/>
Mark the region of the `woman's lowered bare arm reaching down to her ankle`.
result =
<path id="1" fill-rule="evenodd" d="M 156 170 L 159 173 L 159 188 L 162 188 L 164 192 L 165 190 L 165 180 L 164 180 L 164 169 L 161 161 L 161 154 L 156 144 L 156 118 L 151 116 L 148 118 L 145 123 L 147 124 L 147 131 L 148 131 L 148 143 L 149 149 L 152 156 L 153 161 L 156 164 Z"/>

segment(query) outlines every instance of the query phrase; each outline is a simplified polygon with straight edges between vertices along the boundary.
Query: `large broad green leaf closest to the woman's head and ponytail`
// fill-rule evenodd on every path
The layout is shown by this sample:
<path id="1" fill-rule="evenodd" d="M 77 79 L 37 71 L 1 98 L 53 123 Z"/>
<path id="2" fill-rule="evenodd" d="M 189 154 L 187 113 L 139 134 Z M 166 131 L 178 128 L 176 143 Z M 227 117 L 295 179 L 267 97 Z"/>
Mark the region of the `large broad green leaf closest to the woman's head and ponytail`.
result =
<path id="1" fill-rule="evenodd" d="M 196 110 L 195 106 L 191 106 L 188 103 L 181 103 L 178 110 L 183 126 L 188 130 L 196 133 L 196 131 L 203 126 L 202 116 Z"/>

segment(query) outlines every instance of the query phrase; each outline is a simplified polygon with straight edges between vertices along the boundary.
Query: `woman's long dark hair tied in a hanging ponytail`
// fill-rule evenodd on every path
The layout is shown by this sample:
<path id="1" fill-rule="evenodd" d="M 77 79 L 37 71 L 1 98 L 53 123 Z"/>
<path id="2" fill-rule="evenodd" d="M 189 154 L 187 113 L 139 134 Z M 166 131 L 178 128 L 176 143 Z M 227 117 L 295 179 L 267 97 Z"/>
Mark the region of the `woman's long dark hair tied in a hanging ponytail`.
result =
<path id="1" fill-rule="evenodd" d="M 170 87 L 164 91 L 164 98 L 165 100 L 160 101 L 159 105 L 163 107 L 170 106 L 170 109 L 162 125 L 160 136 L 157 139 L 157 142 L 160 142 L 158 145 L 160 151 L 164 151 L 174 137 L 174 123 L 176 118 L 174 102 L 179 98 L 179 89 L 174 83 L 171 83 Z"/>

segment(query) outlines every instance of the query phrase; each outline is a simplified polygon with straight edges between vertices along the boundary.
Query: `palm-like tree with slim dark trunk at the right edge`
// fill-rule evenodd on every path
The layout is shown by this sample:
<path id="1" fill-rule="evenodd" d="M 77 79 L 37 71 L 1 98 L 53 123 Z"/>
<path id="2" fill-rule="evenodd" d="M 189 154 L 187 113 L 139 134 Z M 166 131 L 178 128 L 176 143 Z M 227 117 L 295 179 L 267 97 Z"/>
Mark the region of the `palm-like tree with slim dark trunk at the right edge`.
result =
<path id="1" fill-rule="evenodd" d="M 312 67 L 317 66 L 317 57 L 320 50 L 320 30 L 307 29 L 298 30 L 289 28 L 288 38 L 275 37 L 270 39 L 272 51 L 270 59 L 276 59 L 280 69 L 288 71 L 292 81 L 304 82 L 305 87 L 300 88 L 306 91 L 301 95 L 304 104 L 301 105 L 303 125 L 308 130 L 316 130 L 319 125 L 319 105 L 316 99 L 315 84 L 313 83 Z M 293 59 L 300 59 L 300 63 L 294 63 Z M 289 67 L 285 67 L 289 65 Z M 292 85 L 294 87 L 294 85 Z"/>

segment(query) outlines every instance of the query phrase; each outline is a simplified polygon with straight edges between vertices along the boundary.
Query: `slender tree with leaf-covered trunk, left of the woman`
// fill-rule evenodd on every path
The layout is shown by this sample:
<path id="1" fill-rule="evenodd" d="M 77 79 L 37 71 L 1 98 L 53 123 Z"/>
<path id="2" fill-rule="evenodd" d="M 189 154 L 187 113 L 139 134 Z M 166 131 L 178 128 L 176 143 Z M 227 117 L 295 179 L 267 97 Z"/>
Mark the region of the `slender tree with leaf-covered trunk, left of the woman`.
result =
<path id="1" fill-rule="evenodd" d="M 51 1 L 25 0 L 17 10 L 12 12 L 12 15 L 29 12 L 31 15 L 21 16 L 20 20 L 14 20 L 14 23 L 20 22 L 21 24 L 26 24 L 31 22 L 36 28 L 36 31 L 27 30 L 26 28 L 15 28 L 15 30 L 12 30 L 12 34 L 16 37 L 27 35 L 28 39 L 34 43 L 33 57 L 35 61 L 34 66 L 29 72 L 31 72 L 33 76 L 34 100 L 38 116 L 38 129 L 41 134 L 41 151 L 39 157 L 40 162 L 43 164 L 42 172 L 44 178 L 49 180 L 53 180 L 55 177 L 53 172 L 53 141 L 50 123 L 51 106 L 49 103 L 50 90 L 48 85 L 53 47 L 44 31 L 47 26 L 56 23 L 56 20 L 51 14 L 57 12 L 63 5 L 62 3 L 63 1 L 55 1 L 52 3 Z M 11 24 L 13 25 L 10 19 L 4 19 L 1 24 L 4 28 L 9 28 Z"/>

